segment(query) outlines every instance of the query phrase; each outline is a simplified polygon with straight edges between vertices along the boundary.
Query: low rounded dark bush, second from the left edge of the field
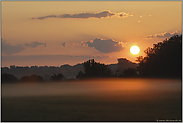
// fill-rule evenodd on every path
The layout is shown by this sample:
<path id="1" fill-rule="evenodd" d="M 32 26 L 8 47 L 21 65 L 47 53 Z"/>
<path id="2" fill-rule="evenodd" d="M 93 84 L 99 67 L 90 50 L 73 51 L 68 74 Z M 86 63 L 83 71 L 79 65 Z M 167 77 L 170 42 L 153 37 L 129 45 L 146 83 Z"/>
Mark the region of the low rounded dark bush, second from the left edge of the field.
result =
<path id="1" fill-rule="evenodd" d="M 20 82 L 44 82 L 44 79 L 39 75 L 33 74 L 30 76 L 23 76 L 20 79 Z"/>

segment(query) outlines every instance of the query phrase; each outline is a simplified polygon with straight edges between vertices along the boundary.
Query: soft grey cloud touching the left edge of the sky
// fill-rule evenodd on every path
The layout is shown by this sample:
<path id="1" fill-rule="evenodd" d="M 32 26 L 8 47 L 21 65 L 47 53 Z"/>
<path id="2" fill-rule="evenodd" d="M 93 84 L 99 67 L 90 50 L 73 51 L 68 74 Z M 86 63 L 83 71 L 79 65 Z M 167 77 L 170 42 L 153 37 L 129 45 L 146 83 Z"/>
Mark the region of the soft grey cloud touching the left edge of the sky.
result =
<path id="1" fill-rule="evenodd" d="M 6 55 L 13 55 L 25 50 L 22 44 L 11 45 L 9 43 L 6 43 L 6 41 L 2 39 L 1 41 L 2 41 L 2 52 Z"/>

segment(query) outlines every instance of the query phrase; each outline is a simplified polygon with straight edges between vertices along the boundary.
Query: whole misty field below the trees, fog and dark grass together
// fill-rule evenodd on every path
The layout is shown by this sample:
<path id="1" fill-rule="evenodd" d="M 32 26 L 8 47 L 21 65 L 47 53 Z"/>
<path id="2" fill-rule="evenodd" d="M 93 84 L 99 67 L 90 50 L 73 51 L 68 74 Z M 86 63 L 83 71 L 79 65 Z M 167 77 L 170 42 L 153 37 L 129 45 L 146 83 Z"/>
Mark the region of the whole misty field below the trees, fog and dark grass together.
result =
<path id="1" fill-rule="evenodd" d="M 182 121 L 181 80 L 2 84 L 2 121 Z"/>

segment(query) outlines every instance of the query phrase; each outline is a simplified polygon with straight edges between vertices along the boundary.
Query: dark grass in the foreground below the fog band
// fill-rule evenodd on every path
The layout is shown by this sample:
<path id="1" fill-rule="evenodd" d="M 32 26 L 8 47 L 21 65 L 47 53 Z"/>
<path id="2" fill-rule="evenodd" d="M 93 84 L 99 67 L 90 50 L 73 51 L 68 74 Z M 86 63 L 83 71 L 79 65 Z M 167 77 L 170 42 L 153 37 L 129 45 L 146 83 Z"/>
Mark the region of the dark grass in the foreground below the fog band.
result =
<path id="1" fill-rule="evenodd" d="M 2 121 L 182 120 L 181 93 L 157 100 L 89 96 L 2 97 Z"/>

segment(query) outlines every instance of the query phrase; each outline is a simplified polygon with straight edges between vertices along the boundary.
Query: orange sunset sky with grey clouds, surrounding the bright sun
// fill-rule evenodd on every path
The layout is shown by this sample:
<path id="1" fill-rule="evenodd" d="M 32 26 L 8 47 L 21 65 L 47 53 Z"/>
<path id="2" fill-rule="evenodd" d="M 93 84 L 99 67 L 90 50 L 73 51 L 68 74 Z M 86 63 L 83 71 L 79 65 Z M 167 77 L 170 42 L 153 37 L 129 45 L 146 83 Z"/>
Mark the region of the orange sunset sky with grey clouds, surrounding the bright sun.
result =
<path id="1" fill-rule="evenodd" d="M 176 34 L 182 1 L 1 1 L 2 67 L 135 62 Z"/>

